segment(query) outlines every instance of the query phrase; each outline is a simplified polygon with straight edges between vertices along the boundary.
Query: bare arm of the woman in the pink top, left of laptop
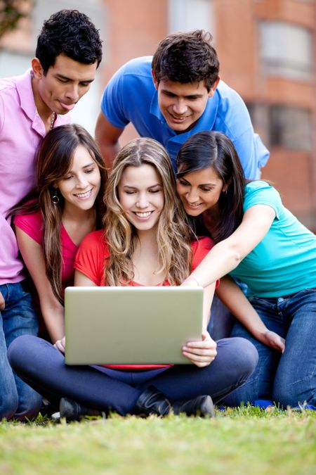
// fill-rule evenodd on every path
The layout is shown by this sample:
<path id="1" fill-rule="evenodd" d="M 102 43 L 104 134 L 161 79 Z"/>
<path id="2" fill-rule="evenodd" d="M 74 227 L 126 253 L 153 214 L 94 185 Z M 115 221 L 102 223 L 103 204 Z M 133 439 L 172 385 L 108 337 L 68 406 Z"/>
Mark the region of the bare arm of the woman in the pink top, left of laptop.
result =
<path id="1" fill-rule="evenodd" d="M 46 328 L 51 340 L 55 343 L 65 334 L 64 308 L 55 298 L 51 284 L 46 277 L 43 248 L 19 227 L 15 227 L 15 233 L 20 253 L 39 294 L 41 313 Z"/>

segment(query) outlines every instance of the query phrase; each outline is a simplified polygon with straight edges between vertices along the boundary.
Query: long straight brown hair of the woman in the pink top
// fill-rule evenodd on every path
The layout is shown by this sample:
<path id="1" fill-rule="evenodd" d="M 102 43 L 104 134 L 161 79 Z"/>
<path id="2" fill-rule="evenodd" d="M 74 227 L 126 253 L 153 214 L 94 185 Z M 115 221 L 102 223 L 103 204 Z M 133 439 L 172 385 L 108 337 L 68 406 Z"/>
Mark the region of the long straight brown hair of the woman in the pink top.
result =
<path id="1" fill-rule="evenodd" d="M 13 210 L 13 214 L 31 214 L 41 210 L 44 222 L 43 248 L 46 275 L 51 283 L 55 297 L 63 304 L 62 297 L 62 249 L 60 226 L 65 200 L 54 188 L 55 182 L 65 177 L 72 167 L 74 152 L 78 146 L 84 146 L 100 170 L 100 191 L 96 198 L 96 227 L 102 227 L 105 213 L 103 195 L 107 182 L 107 171 L 103 158 L 93 137 L 77 124 L 61 125 L 52 129 L 41 141 L 37 151 L 37 188 L 39 201 L 22 205 Z M 54 204 L 52 197 L 58 195 L 59 202 Z M 27 198 L 29 199 L 29 198 Z"/>

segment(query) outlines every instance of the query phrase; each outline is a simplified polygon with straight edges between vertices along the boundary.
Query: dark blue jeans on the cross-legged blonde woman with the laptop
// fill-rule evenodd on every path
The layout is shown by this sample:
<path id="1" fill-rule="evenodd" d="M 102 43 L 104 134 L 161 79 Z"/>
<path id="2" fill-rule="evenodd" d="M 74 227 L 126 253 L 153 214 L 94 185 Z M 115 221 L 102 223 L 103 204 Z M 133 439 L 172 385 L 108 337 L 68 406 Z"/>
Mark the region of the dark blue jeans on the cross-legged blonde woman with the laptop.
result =
<path id="1" fill-rule="evenodd" d="M 20 336 L 8 349 L 8 358 L 22 379 L 58 406 L 62 397 L 86 407 L 111 408 L 119 414 L 133 412 L 140 394 L 150 386 L 169 400 L 188 400 L 209 394 L 217 403 L 244 384 L 258 362 L 256 348 L 244 338 L 218 341 L 211 365 L 175 365 L 146 371 L 119 371 L 91 366 L 67 366 L 51 343 L 34 336 Z"/>

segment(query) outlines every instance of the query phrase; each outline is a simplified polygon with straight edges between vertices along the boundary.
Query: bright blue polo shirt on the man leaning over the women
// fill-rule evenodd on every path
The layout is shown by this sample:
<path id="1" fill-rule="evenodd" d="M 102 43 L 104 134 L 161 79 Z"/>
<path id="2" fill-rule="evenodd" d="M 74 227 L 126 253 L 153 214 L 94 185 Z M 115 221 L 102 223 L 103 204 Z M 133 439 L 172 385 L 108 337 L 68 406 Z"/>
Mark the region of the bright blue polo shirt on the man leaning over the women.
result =
<path id="1" fill-rule="evenodd" d="M 254 133 L 248 110 L 236 91 L 220 80 L 195 127 L 177 134 L 159 109 L 151 70 L 151 56 L 136 58 L 123 65 L 108 82 L 101 109 L 114 127 L 124 129 L 132 122 L 140 137 L 151 137 L 165 146 L 173 168 L 180 146 L 192 134 L 203 130 L 223 132 L 235 145 L 246 178 L 260 177 L 260 168 L 267 163 L 269 152 Z"/>

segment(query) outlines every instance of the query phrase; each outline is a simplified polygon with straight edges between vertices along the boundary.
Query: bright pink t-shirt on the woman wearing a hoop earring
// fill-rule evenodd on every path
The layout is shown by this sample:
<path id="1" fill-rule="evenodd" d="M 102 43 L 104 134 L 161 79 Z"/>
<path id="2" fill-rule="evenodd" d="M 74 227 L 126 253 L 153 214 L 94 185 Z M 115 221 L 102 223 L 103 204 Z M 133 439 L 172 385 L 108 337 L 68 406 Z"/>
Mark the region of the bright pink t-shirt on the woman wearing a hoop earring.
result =
<path id="1" fill-rule="evenodd" d="M 32 215 L 17 215 L 13 220 L 15 226 L 19 227 L 29 237 L 37 243 L 43 245 L 44 226 L 41 212 L 37 211 Z M 76 257 L 78 247 L 65 227 L 61 225 L 60 243 L 62 250 L 62 288 L 74 285 L 74 258 Z"/>

